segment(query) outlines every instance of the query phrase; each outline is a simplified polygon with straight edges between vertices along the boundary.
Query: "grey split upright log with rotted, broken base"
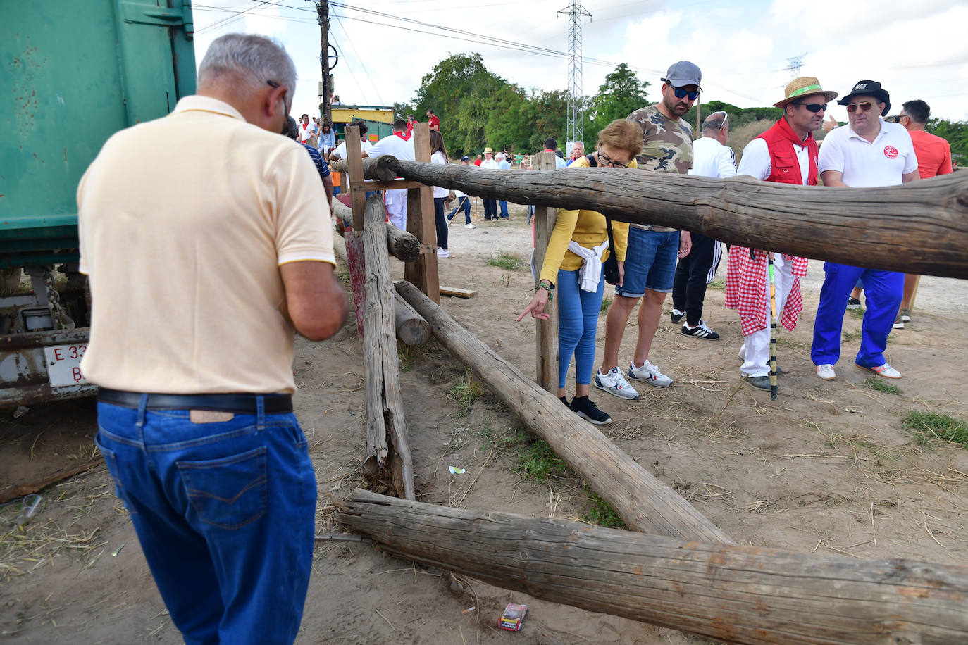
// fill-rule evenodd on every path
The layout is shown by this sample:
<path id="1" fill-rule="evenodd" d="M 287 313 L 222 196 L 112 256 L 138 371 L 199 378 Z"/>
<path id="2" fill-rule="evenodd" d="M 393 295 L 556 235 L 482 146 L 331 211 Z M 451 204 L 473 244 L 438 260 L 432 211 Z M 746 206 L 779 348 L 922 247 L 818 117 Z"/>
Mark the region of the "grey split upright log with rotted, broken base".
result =
<path id="1" fill-rule="evenodd" d="M 393 280 L 386 255 L 383 200 L 374 195 L 363 211 L 366 254 L 366 311 L 363 372 L 366 382 L 366 454 L 363 474 L 389 484 L 396 495 L 414 499 L 413 461 L 407 440 L 404 399 L 394 324 Z"/>

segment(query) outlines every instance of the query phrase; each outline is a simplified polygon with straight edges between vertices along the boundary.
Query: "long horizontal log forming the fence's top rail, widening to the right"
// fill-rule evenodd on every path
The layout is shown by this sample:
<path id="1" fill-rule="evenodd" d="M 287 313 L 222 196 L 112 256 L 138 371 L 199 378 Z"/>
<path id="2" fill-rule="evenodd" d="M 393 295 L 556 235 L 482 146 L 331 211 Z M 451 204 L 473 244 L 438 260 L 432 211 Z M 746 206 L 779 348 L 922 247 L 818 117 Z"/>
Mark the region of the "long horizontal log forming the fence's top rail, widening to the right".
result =
<path id="1" fill-rule="evenodd" d="M 968 173 L 902 186 L 832 189 L 636 169 L 481 170 L 379 157 L 400 175 L 517 204 L 590 209 L 695 231 L 729 244 L 874 269 L 968 278 Z"/>

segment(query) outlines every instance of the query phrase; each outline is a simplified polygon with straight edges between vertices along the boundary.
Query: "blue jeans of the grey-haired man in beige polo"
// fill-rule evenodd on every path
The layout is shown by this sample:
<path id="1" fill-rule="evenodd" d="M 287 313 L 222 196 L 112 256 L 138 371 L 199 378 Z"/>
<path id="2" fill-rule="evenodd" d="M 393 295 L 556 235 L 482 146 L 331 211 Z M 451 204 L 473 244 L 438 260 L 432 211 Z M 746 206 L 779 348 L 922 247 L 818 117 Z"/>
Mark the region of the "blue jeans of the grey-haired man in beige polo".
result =
<path id="1" fill-rule="evenodd" d="M 295 415 L 193 423 L 144 401 L 99 402 L 96 442 L 175 627 L 190 644 L 291 643 L 317 497 Z"/>

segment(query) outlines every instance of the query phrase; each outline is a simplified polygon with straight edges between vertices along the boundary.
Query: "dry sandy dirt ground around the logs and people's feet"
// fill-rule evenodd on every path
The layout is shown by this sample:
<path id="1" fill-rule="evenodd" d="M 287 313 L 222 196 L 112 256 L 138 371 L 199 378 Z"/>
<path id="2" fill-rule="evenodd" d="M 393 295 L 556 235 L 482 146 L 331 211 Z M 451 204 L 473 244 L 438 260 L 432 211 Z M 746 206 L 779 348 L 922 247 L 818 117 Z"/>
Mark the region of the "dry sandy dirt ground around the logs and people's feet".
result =
<path id="1" fill-rule="evenodd" d="M 478 213 L 481 210 L 478 207 Z M 530 229 L 511 220 L 455 221 L 452 256 L 440 282 L 474 289 L 442 306 L 526 374 L 534 370 L 534 324 L 515 322 L 529 300 Z M 505 253 L 518 268 L 489 266 Z M 402 277 L 402 265 L 392 260 Z M 725 274 L 725 262 L 720 276 Z M 968 451 L 919 442 L 902 420 L 911 410 L 968 415 L 965 282 L 922 280 L 914 322 L 892 333 L 899 393 L 865 384 L 852 365 L 860 318 L 848 313 L 838 378 L 819 380 L 809 360 L 822 263 L 803 282 L 798 329 L 779 336 L 780 396 L 742 385 L 735 312 L 721 280 L 706 318 L 719 341 L 682 337 L 667 314 L 651 361 L 676 380 L 641 386 L 625 401 L 592 389 L 615 417 L 603 430 L 620 448 L 742 543 L 858 558 L 968 562 Z M 667 303 L 667 310 L 669 304 Z M 604 334 L 599 326 L 598 355 Z M 634 314 L 621 357 L 635 338 Z M 466 404 L 452 395 L 467 370 L 435 340 L 401 353 L 401 381 L 418 499 L 533 517 L 590 516 L 590 491 L 561 470 L 541 481 L 522 474 L 525 428 L 484 391 Z M 319 535 L 342 532 L 330 496 L 361 485 L 363 363 L 350 319 L 325 342 L 298 339 L 296 412 L 309 437 L 319 485 Z M 573 374 L 573 370 L 572 370 Z M 570 386 L 569 386 L 570 389 Z M 727 399 L 732 391 L 735 396 Z M 725 406 L 725 408 L 724 408 Z M 36 405 L 18 419 L 0 411 L 0 489 L 36 480 L 96 454 L 92 400 Z M 452 475 L 448 466 L 465 469 Z M 24 530 L 19 505 L 0 508 L 0 631 L 11 643 L 177 643 L 124 509 L 104 466 L 43 491 Z M 497 629 L 508 601 L 529 605 L 519 633 Z M 471 611 L 467 611 L 473 608 Z M 705 643 L 704 638 L 511 593 L 414 566 L 368 542 L 318 542 L 299 643 Z"/>

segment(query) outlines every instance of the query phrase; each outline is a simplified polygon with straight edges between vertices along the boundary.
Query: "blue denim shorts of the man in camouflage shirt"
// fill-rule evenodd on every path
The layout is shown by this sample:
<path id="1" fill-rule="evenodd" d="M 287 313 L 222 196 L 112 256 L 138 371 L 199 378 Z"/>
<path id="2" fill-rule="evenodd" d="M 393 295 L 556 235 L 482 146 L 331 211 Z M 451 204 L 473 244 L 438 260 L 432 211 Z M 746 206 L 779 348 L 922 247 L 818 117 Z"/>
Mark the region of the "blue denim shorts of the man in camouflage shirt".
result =
<path id="1" fill-rule="evenodd" d="M 669 293 L 676 278 L 679 231 L 647 231 L 628 228 L 625 277 L 615 288 L 620 296 L 640 298 L 646 289 Z"/>

